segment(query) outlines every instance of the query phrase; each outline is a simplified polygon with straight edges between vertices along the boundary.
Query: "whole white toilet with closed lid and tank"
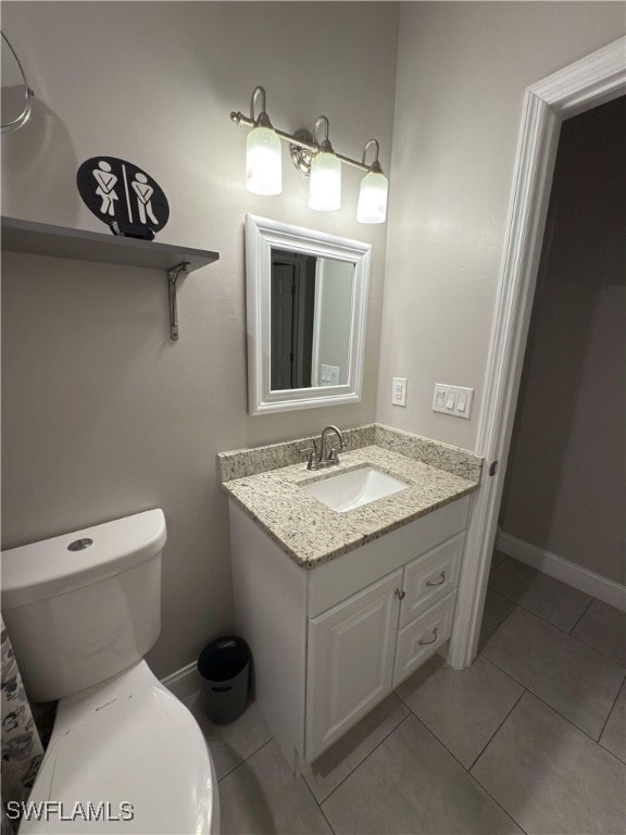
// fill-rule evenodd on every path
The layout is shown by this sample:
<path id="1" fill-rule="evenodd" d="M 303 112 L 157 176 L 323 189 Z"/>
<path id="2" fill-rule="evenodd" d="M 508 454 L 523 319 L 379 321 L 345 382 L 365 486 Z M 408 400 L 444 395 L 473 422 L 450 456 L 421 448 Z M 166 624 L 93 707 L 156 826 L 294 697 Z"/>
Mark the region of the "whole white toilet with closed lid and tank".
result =
<path id="1" fill-rule="evenodd" d="M 143 660 L 161 628 L 165 516 L 149 510 L 2 552 L 2 614 L 28 697 L 59 699 L 30 833 L 220 831 L 211 753 Z M 47 801 L 55 801 L 52 805 Z"/>

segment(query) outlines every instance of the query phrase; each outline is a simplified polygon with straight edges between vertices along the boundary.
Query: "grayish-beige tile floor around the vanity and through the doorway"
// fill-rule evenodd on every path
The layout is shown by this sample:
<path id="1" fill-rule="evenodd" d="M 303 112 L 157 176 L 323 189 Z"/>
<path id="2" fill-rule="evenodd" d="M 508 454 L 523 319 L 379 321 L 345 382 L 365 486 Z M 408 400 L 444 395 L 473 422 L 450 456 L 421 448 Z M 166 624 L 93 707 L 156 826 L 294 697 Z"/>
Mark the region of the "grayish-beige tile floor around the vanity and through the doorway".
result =
<path id="1" fill-rule="evenodd" d="M 301 776 L 255 705 L 209 739 L 222 832 L 626 832 L 626 615 L 494 553 L 474 664 L 430 659 Z"/>

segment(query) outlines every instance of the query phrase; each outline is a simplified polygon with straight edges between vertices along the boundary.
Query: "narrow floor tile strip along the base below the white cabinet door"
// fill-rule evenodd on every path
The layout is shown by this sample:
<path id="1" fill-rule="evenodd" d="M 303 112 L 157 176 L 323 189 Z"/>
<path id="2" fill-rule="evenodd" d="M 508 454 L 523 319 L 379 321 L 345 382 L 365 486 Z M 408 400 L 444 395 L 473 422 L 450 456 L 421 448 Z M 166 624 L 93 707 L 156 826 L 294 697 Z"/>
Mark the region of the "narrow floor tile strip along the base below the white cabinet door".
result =
<path id="1" fill-rule="evenodd" d="M 408 713 L 406 706 L 391 694 L 312 765 L 304 767 L 304 780 L 317 802 L 325 800 Z"/>

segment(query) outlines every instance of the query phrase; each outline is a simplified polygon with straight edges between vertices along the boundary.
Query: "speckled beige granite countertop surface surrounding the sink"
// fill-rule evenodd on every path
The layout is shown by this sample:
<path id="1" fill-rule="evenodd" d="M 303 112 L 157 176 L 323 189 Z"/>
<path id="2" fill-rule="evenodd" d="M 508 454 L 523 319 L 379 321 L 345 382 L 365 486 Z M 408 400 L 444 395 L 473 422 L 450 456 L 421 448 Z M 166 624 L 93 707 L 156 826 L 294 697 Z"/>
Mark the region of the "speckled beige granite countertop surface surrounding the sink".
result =
<path id="1" fill-rule="evenodd" d="M 480 459 L 468 478 L 378 444 L 345 451 L 340 459 L 327 470 L 309 471 L 305 463 L 298 463 L 224 481 L 223 488 L 299 565 L 314 568 L 467 496 L 478 488 L 480 478 Z M 388 473 L 409 487 L 345 513 L 299 489 L 364 466 Z"/>

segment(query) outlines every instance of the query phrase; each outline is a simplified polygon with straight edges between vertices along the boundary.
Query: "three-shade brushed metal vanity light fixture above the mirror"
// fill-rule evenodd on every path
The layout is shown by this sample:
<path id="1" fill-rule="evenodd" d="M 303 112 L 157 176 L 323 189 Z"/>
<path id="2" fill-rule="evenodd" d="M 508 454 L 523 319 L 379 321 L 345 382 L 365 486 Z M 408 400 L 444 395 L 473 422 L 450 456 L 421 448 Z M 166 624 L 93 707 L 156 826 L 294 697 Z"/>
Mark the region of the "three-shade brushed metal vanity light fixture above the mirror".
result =
<path id="1" fill-rule="evenodd" d="M 261 112 L 254 115 L 256 98 L 261 97 Z M 320 116 L 313 133 L 298 130 L 288 134 L 272 125 L 265 112 L 265 89 L 255 87 L 250 102 L 250 116 L 230 113 L 236 125 L 251 127 L 246 151 L 246 188 L 256 195 L 279 195 L 281 191 L 280 140 L 289 142 L 291 161 L 296 169 L 311 177 L 309 205 L 317 211 L 331 212 L 341 204 L 341 163 L 366 172 L 361 183 L 356 220 L 360 223 L 385 223 L 387 219 L 388 180 L 378 162 L 380 146 L 370 139 L 361 162 L 337 153 L 328 139 L 328 119 Z M 324 125 L 325 136 L 316 139 Z M 376 149 L 372 164 L 365 162 L 371 146 Z"/>

